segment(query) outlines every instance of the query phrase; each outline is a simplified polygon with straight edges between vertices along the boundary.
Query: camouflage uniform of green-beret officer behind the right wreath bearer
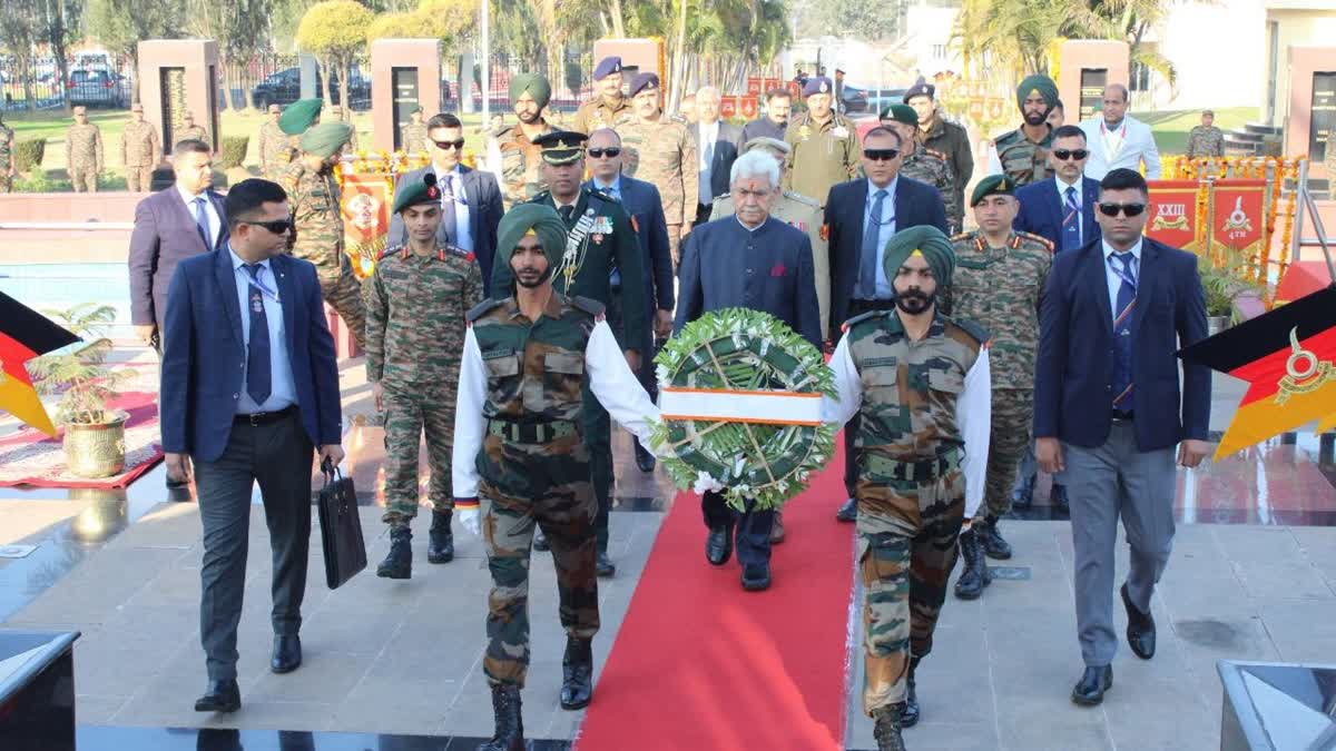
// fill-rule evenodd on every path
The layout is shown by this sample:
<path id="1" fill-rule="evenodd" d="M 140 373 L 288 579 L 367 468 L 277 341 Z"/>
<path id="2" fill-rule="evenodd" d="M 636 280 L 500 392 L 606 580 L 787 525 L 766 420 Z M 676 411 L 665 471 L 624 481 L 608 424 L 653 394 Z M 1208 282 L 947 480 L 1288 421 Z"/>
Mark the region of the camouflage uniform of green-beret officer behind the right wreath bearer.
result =
<path id="1" fill-rule="evenodd" d="M 951 238 L 951 246 L 955 274 L 942 298 L 942 310 L 978 322 L 993 337 L 987 489 L 975 514 L 991 521 L 1011 510 L 1015 469 L 1030 445 L 1039 298 L 1053 266 L 1053 246 L 1029 233 L 1011 233 L 1001 249 L 989 247 L 982 233 L 962 233 Z"/>

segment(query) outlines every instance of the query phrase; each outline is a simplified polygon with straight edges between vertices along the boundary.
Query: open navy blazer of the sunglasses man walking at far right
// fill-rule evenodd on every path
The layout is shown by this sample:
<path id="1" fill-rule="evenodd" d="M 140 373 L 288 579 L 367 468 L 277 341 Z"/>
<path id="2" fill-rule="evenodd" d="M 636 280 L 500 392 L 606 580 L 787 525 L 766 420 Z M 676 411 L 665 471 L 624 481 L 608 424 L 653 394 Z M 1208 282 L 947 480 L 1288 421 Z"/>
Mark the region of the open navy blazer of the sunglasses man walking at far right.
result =
<path id="1" fill-rule="evenodd" d="M 1039 310 L 1034 369 L 1034 436 L 1085 448 L 1109 438 L 1113 406 L 1113 307 L 1104 243 L 1053 258 Z M 1210 370 L 1174 353 L 1206 337 L 1206 305 L 1197 257 L 1145 238 L 1132 314 L 1133 424 L 1142 452 L 1184 438 L 1206 440 Z"/>

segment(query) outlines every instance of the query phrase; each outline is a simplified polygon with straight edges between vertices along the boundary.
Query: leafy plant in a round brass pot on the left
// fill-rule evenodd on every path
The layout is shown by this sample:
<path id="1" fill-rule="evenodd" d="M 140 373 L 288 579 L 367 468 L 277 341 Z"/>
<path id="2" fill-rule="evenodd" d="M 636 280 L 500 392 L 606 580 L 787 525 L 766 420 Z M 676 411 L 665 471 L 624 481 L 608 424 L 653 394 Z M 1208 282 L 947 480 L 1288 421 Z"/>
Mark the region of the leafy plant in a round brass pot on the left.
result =
<path id="1" fill-rule="evenodd" d="M 126 466 L 128 416 L 108 409 L 107 402 L 127 373 L 107 366 L 111 339 L 102 335 L 116 319 L 116 310 L 90 302 L 44 313 L 83 339 L 29 363 L 37 392 L 60 394 L 56 424 L 65 429 L 65 465 L 79 477 L 116 474 Z"/>

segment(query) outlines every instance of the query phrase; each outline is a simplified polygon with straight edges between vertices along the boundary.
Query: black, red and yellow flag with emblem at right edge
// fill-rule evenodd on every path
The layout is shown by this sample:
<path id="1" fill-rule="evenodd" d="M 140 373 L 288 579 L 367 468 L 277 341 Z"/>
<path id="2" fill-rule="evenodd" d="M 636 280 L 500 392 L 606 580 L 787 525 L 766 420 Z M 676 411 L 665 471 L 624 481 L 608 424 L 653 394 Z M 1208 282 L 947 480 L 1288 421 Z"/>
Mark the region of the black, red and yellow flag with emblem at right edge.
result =
<path id="1" fill-rule="evenodd" d="M 1336 425 L 1336 286 L 1184 347 L 1180 357 L 1248 381 L 1216 460 L 1317 420 Z"/>

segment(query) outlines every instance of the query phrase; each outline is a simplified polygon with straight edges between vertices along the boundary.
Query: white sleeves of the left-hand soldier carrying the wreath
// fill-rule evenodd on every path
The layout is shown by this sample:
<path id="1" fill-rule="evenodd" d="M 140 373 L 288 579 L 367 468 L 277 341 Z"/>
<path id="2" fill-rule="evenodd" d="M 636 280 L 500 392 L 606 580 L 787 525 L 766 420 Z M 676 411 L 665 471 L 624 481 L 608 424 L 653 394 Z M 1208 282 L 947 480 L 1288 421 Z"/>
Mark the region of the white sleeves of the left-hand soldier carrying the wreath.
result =
<path id="1" fill-rule="evenodd" d="M 659 421 L 659 408 L 649 401 L 649 394 L 631 371 L 607 321 L 599 321 L 589 334 L 589 343 L 585 346 L 585 374 L 599 404 L 619 425 L 635 433 L 640 438 L 640 445 L 648 446 L 651 421 Z M 488 366 L 482 362 L 482 350 L 478 349 L 478 339 L 469 326 L 464 337 L 460 393 L 454 408 L 454 452 L 450 472 L 456 498 L 478 496 L 478 470 L 474 462 L 482 450 L 488 428 L 488 421 L 482 417 L 482 405 L 486 401 Z"/>

